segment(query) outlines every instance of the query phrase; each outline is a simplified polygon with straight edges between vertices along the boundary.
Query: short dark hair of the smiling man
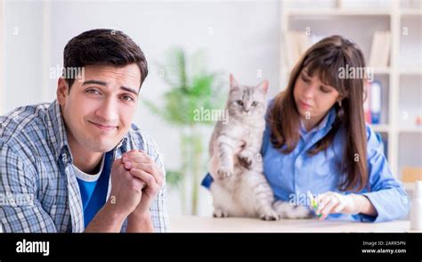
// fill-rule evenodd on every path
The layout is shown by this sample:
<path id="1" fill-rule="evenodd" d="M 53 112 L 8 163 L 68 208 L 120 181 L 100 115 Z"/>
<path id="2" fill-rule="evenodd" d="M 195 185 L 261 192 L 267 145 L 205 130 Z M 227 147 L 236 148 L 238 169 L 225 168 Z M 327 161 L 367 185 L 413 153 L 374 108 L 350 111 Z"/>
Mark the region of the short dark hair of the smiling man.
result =
<path id="1" fill-rule="evenodd" d="M 139 45 L 122 31 L 93 29 L 73 37 L 64 47 L 63 78 L 70 89 L 76 77 L 66 74 L 69 70 L 79 72 L 88 65 L 124 67 L 131 63 L 136 63 L 141 70 L 142 86 L 148 75 L 148 63 Z"/>

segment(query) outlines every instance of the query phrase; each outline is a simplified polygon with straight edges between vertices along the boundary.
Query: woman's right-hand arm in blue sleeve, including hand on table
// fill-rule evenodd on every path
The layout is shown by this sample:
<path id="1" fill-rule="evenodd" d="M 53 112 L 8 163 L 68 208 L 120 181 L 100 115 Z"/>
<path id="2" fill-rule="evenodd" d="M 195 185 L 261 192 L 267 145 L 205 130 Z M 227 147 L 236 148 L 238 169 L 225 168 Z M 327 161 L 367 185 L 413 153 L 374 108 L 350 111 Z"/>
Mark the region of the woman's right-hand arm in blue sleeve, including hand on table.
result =
<path id="1" fill-rule="evenodd" d="M 353 214 L 361 222 L 383 222 L 405 217 L 410 201 L 402 183 L 391 172 L 377 135 L 367 127 L 367 189 L 349 194 L 326 192 L 318 196 L 318 209 L 324 219 L 333 213 Z"/>

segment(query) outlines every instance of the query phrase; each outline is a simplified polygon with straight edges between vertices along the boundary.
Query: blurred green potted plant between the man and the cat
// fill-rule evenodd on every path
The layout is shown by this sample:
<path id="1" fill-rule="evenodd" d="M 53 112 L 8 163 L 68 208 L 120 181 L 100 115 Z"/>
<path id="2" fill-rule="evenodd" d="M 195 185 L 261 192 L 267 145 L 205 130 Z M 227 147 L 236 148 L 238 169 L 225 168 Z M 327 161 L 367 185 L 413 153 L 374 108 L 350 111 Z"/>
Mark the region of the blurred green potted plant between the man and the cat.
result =
<path id="1" fill-rule="evenodd" d="M 158 108 L 154 102 L 143 100 L 154 114 L 176 128 L 180 134 L 182 162 L 178 169 L 166 169 L 166 181 L 181 190 L 183 213 L 191 201 L 191 215 L 198 214 L 200 178 L 207 172 L 207 155 L 204 143 L 207 137 L 200 133 L 201 126 L 211 126 L 215 119 L 199 118 L 199 111 L 222 108 L 221 81 L 216 72 L 206 67 L 206 54 L 196 52 L 188 56 L 182 48 L 168 51 L 166 61 L 158 64 L 159 77 L 170 90 L 163 94 L 164 106 Z M 207 144 L 207 143 L 206 143 Z M 187 178 L 191 177 L 191 195 L 188 196 Z"/>

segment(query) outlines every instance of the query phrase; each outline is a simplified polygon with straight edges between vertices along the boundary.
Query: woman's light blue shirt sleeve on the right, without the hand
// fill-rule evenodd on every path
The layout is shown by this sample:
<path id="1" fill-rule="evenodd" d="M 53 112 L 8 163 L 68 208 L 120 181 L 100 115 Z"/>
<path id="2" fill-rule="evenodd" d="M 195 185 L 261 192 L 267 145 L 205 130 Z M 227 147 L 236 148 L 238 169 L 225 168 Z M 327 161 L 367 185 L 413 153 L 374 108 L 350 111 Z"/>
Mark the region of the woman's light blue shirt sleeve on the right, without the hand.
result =
<path id="1" fill-rule="evenodd" d="M 385 159 L 382 143 L 375 132 L 367 126 L 369 192 L 364 192 L 377 209 L 377 217 L 356 215 L 362 222 L 384 222 L 405 217 L 410 201 L 403 184 L 393 175 Z"/>

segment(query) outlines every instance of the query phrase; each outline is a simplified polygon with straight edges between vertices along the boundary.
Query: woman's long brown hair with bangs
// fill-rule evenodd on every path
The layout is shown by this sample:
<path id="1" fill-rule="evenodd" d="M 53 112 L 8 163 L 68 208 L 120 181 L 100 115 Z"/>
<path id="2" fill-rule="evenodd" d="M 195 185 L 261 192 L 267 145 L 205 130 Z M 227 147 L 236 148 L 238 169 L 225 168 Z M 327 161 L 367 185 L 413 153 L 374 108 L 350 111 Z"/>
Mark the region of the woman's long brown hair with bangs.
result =
<path id="1" fill-rule="evenodd" d="M 340 190 L 361 191 L 368 180 L 367 135 L 363 114 L 364 79 L 339 77 L 341 69 L 365 69 L 365 59 L 358 45 L 345 37 L 332 36 L 312 45 L 296 63 L 287 89 L 278 94 L 268 116 L 272 128 L 271 141 L 283 153 L 293 151 L 299 141 L 300 114 L 296 108 L 293 89 L 296 79 L 306 69 L 310 77 L 316 74 L 322 83 L 337 89 L 341 106 L 334 104 L 336 119 L 329 133 L 308 151 L 314 155 L 325 151 L 340 127 L 345 127 L 345 152 L 340 170 L 345 179 Z"/>

